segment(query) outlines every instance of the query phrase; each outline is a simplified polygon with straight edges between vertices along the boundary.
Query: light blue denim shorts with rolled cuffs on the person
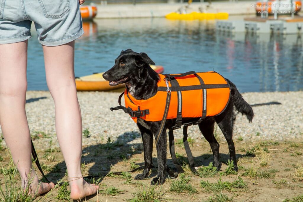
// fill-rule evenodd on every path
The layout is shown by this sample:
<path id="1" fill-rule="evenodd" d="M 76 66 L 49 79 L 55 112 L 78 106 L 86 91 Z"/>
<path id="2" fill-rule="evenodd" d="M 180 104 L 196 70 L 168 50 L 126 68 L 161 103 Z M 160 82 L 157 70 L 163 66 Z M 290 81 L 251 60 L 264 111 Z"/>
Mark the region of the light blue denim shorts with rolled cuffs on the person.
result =
<path id="1" fill-rule="evenodd" d="M 0 0 L 0 44 L 31 38 L 32 22 L 46 46 L 66 44 L 84 34 L 78 0 Z"/>

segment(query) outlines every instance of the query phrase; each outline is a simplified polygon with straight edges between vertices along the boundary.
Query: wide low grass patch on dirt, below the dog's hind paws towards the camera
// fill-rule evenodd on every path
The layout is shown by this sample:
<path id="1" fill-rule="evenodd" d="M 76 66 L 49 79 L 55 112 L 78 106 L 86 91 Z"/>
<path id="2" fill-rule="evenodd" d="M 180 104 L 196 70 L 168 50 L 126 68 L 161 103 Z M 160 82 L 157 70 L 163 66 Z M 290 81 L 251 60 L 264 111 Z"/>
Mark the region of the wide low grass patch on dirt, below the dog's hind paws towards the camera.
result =
<path id="1" fill-rule="evenodd" d="M 225 181 L 222 182 L 222 174 L 220 174 L 220 179 L 217 183 L 210 183 L 208 181 L 201 181 L 200 186 L 205 189 L 207 192 L 222 192 L 222 190 L 229 190 L 232 192 L 238 191 L 247 191 L 248 186 L 247 183 L 242 180 L 241 177 L 238 177 L 238 180 L 234 180 L 233 182 Z"/>

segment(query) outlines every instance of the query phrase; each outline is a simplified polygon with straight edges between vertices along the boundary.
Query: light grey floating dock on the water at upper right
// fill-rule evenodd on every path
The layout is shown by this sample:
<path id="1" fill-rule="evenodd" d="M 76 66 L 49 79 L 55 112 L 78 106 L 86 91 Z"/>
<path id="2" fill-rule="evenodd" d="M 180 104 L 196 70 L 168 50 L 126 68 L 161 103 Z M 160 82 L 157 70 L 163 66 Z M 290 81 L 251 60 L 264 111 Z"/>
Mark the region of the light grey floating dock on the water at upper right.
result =
<path id="1" fill-rule="evenodd" d="M 245 18 L 244 20 L 219 20 L 216 30 L 221 32 L 248 32 L 248 33 L 279 33 L 301 34 L 303 17 Z"/>

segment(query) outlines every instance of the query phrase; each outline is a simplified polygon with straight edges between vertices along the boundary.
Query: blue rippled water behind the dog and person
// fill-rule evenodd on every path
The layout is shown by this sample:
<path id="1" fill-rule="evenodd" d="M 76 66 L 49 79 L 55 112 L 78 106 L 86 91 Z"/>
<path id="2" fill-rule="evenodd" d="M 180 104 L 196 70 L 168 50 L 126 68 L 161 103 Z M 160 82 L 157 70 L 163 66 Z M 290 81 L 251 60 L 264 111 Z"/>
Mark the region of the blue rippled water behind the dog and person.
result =
<path id="1" fill-rule="evenodd" d="M 146 52 L 165 73 L 215 70 L 240 92 L 303 89 L 301 35 L 228 35 L 215 22 L 106 19 L 84 23 L 76 40 L 75 75 L 104 72 L 121 50 Z M 41 45 L 28 44 L 28 90 L 47 90 Z"/>

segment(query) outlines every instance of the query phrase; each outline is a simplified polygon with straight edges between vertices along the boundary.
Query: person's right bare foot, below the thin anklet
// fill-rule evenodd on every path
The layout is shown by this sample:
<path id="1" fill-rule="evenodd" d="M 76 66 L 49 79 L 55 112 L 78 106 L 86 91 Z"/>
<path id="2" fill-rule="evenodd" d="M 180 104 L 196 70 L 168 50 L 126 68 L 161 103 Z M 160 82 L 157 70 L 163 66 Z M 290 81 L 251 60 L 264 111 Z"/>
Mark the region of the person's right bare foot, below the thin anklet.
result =
<path id="1" fill-rule="evenodd" d="M 79 200 L 84 197 L 93 195 L 99 189 L 98 185 L 89 184 L 83 178 L 70 182 L 71 186 L 71 199 Z"/>

